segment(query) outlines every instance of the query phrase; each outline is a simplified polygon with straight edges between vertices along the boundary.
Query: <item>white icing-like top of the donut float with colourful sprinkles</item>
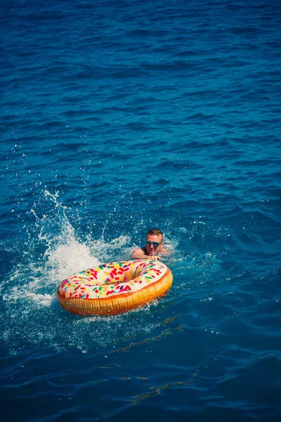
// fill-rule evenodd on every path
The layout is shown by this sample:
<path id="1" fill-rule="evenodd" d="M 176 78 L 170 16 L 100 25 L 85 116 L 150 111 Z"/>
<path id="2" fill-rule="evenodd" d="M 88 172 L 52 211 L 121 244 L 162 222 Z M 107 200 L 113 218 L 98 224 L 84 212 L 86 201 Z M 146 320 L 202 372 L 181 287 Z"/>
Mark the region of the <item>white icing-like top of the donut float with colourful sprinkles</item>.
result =
<path id="1" fill-rule="evenodd" d="M 166 265 L 159 261 L 110 262 L 63 280 L 58 286 L 58 294 L 66 299 L 99 299 L 133 293 L 159 281 L 166 271 Z"/>

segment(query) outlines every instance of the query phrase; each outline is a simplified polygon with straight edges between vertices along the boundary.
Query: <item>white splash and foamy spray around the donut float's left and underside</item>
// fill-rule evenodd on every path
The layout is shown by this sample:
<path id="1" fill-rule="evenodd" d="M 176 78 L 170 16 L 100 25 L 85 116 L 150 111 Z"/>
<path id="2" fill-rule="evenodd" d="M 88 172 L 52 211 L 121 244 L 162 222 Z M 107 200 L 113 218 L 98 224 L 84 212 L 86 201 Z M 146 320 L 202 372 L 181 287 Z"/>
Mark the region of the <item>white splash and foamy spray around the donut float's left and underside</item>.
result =
<path id="1" fill-rule="evenodd" d="M 0 316 L 3 327 L 0 338 L 4 344 L 13 353 L 27 344 L 89 350 L 150 332 L 154 324 L 145 322 L 143 315 L 157 307 L 157 301 L 143 308 L 142 313 L 132 311 L 89 319 L 68 314 L 59 307 L 55 291 L 61 280 L 100 262 L 127 260 L 131 238 L 122 235 L 105 241 L 103 233 L 98 240 L 86 234 L 84 241 L 70 222 L 72 210 L 60 203 L 59 193 L 46 190 L 43 199 L 47 212 L 40 215 L 40 201 L 32 207 L 30 214 L 34 222 L 21 245 L 22 258 L 0 286 L 0 300 L 5 309 Z"/>

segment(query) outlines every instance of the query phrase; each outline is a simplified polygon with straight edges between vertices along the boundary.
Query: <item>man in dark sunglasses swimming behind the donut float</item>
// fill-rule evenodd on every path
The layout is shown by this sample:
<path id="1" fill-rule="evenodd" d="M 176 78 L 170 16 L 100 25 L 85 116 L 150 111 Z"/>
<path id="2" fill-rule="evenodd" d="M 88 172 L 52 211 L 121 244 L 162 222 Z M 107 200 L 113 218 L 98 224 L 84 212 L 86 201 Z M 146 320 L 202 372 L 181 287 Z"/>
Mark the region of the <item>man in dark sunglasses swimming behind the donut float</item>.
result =
<path id="1" fill-rule="evenodd" d="M 169 253 L 164 249 L 163 234 L 159 229 L 151 229 L 146 235 L 145 246 L 136 248 L 131 254 L 132 260 L 160 260 L 161 255 Z"/>

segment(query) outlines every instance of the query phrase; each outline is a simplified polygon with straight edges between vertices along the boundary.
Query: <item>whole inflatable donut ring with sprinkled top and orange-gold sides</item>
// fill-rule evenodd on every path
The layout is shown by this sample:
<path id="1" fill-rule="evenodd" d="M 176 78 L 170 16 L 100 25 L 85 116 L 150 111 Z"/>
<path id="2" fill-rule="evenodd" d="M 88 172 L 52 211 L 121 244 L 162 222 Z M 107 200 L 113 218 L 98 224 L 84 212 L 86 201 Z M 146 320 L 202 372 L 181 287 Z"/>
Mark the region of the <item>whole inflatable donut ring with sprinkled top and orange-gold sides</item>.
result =
<path id="1" fill-rule="evenodd" d="M 57 298 L 79 315 L 116 315 L 145 305 L 166 293 L 173 275 L 159 261 L 110 262 L 63 280 Z"/>

